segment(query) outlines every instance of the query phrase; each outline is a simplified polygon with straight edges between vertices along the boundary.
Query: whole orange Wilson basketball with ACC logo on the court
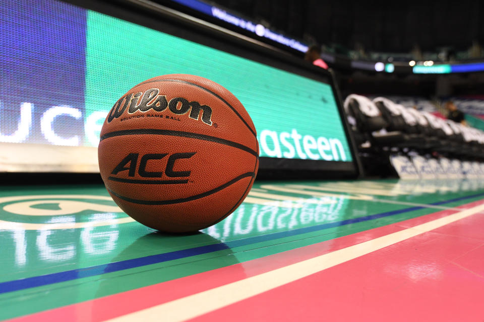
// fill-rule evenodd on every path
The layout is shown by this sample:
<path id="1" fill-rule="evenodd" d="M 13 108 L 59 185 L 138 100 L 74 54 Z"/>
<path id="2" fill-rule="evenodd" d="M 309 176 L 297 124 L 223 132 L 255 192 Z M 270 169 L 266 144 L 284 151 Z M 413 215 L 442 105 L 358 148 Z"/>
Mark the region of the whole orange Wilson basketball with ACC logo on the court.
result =
<path id="1" fill-rule="evenodd" d="M 120 98 L 98 149 L 116 204 L 170 232 L 202 229 L 232 213 L 252 187 L 258 155 L 254 124 L 235 96 L 185 74 L 148 79 Z"/>

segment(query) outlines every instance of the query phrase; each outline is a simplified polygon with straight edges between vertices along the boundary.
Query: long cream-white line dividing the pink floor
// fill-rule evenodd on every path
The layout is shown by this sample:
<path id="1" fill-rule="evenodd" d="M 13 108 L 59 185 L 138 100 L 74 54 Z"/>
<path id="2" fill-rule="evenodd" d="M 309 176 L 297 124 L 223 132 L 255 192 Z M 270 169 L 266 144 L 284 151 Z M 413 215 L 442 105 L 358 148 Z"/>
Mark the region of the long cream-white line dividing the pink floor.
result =
<path id="1" fill-rule="evenodd" d="M 204 292 L 179 298 L 167 303 L 111 319 L 116 322 L 131 321 L 183 321 L 222 308 L 273 288 L 318 273 L 335 265 L 378 251 L 457 220 L 484 211 L 484 204 L 411 228 L 378 237 L 332 253 L 291 264 L 270 272 L 249 277 Z"/>

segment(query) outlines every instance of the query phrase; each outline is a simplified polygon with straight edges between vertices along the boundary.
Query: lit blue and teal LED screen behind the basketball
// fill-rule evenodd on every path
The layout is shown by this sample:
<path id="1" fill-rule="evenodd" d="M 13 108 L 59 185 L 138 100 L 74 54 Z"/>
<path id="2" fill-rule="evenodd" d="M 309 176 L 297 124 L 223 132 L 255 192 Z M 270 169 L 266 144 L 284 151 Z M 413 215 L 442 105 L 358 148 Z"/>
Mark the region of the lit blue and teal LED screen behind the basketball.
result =
<path id="1" fill-rule="evenodd" d="M 188 73 L 212 79 L 243 103 L 261 156 L 353 161 L 329 77 L 56 0 L 7 0 L 0 13 L 0 142 L 97 147 L 108 111 L 133 85 Z"/>

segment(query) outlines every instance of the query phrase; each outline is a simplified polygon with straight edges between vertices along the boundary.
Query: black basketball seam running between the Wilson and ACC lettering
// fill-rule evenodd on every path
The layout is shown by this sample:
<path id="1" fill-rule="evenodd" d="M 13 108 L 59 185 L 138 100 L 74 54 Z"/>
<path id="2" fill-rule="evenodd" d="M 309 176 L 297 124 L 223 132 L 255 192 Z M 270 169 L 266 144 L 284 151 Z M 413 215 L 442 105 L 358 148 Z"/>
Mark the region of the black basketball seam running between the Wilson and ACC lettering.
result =
<path id="1" fill-rule="evenodd" d="M 243 144 L 221 139 L 219 137 L 215 136 L 210 136 L 210 135 L 205 135 L 205 134 L 198 134 L 198 133 L 192 133 L 192 132 L 183 132 L 183 131 L 173 131 L 173 130 L 158 130 L 158 129 L 130 129 L 130 130 L 120 130 L 120 131 L 113 131 L 104 134 L 101 136 L 101 141 L 104 139 L 107 139 L 109 137 L 114 137 L 114 136 L 121 136 L 121 135 L 169 135 L 169 136 L 182 136 L 182 137 L 188 137 L 188 138 L 193 138 L 193 139 L 198 139 L 198 140 L 204 140 L 204 141 L 210 141 L 210 142 L 215 142 L 215 143 L 220 143 L 228 146 L 232 146 L 235 148 L 238 148 L 240 150 L 247 151 L 253 155 L 258 156 L 259 153 L 254 151 L 248 146 L 245 146 Z M 257 146 L 259 149 L 259 147 Z"/>

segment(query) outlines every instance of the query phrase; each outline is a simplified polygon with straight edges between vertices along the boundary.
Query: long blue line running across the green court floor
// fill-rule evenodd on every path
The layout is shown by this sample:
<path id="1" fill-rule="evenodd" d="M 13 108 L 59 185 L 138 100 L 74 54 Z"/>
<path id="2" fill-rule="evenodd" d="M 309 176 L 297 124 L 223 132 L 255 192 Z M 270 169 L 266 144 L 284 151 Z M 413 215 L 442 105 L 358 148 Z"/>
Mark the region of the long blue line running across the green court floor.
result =
<path id="1" fill-rule="evenodd" d="M 471 199 L 476 197 L 482 197 L 482 196 L 484 196 L 484 193 L 454 198 L 454 199 L 445 200 L 445 201 L 434 202 L 434 203 L 431 203 L 431 205 L 441 205 L 441 204 L 446 204 L 446 203 L 451 203 L 451 202 L 456 202 L 456 201 Z M 288 230 L 288 231 L 280 231 L 280 232 L 274 232 L 274 233 L 261 235 L 261 236 L 254 236 L 254 237 L 248 237 L 248 238 L 243 238 L 238 240 L 232 240 L 232 241 L 227 241 L 226 243 L 217 243 L 217 244 L 195 247 L 195 248 L 190 248 L 190 249 L 181 250 L 181 251 L 174 251 L 169 253 L 134 258 L 126 261 L 96 265 L 96 266 L 75 269 L 70 271 L 64 271 L 64 272 L 58 272 L 58 273 L 52 273 L 52 274 L 46 274 L 46 275 L 2 282 L 0 283 L 0 294 L 33 288 L 37 286 L 44 286 L 44 285 L 55 284 L 60 282 L 72 281 L 83 277 L 90 277 L 90 276 L 96 276 L 96 275 L 101 275 L 106 273 L 118 272 L 118 271 L 123 271 L 131 268 L 137 268 L 137 267 L 142 267 L 142 266 L 151 265 L 151 264 L 158 264 L 158 263 L 173 261 L 181 258 L 192 257 L 196 255 L 213 253 L 213 252 L 226 250 L 234 247 L 247 246 L 251 244 L 260 243 L 261 241 L 294 236 L 294 235 L 313 232 L 317 230 L 323 230 L 327 228 L 333 228 L 333 227 L 348 225 L 352 223 L 393 216 L 393 215 L 415 211 L 419 209 L 428 209 L 428 208 L 426 207 L 404 208 L 404 209 L 387 211 L 387 212 L 382 212 L 382 213 L 368 215 L 368 216 L 362 216 L 358 218 L 323 223 L 319 225 L 302 227 L 302 228 L 297 228 L 297 229 Z"/>

